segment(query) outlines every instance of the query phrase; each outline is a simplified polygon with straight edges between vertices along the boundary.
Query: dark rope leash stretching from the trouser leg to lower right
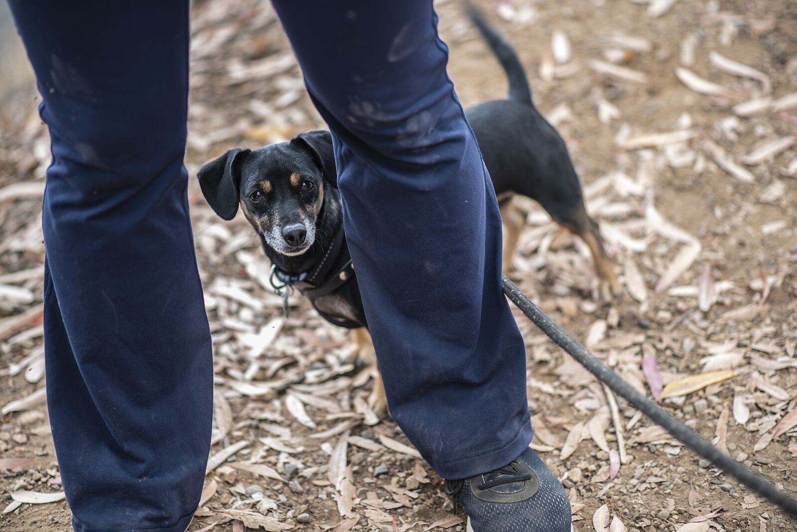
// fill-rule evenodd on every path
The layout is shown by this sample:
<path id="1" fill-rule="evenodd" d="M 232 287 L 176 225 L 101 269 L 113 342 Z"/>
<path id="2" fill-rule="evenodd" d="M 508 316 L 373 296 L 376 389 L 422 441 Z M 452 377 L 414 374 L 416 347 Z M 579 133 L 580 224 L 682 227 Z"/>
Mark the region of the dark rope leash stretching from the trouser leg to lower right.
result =
<path id="1" fill-rule="evenodd" d="M 637 390 L 631 387 L 626 381 L 618 377 L 613 370 L 603 365 L 594 354 L 591 354 L 579 342 L 576 342 L 570 334 L 567 334 L 562 327 L 559 327 L 548 317 L 540 308 L 537 307 L 522 291 L 520 291 L 512 281 L 503 276 L 502 284 L 506 296 L 523 311 L 524 315 L 548 335 L 563 350 L 567 351 L 576 362 L 587 368 L 589 372 L 598 380 L 606 383 L 614 393 L 628 401 L 635 409 L 650 417 L 655 424 L 666 429 L 676 440 L 681 441 L 691 448 L 698 455 L 711 461 L 714 465 L 724 470 L 728 474 L 736 477 L 740 483 L 755 491 L 765 499 L 775 503 L 789 514 L 797 516 L 797 500 L 792 499 L 783 491 L 779 491 L 774 484 L 767 479 L 756 475 L 749 467 L 733 460 L 730 456 L 714 447 L 708 440 L 694 432 L 681 421 L 666 413 L 662 407 L 642 396 Z"/>

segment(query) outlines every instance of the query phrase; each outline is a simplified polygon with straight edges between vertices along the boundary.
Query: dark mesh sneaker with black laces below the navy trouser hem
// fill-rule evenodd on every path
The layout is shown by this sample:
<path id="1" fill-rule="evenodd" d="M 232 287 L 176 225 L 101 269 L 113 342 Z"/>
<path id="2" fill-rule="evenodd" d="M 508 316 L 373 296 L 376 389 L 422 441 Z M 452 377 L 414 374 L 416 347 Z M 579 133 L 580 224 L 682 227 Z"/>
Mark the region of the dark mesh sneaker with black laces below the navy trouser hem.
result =
<path id="1" fill-rule="evenodd" d="M 570 532 L 570 501 L 531 448 L 511 464 L 469 479 L 446 479 L 473 532 Z"/>

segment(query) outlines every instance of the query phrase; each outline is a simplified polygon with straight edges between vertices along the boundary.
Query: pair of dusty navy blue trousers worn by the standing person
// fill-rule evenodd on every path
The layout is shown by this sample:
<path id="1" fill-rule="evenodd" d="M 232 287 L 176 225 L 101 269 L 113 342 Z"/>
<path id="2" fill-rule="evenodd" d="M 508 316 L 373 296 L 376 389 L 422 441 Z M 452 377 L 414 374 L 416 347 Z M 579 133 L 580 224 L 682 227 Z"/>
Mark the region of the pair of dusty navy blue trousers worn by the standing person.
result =
<path id="1" fill-rule="evenodd" d="M 44 198 L 53 440 L 76 530 L 182 532 L 212 366 L 186 203 L 188 2 L 11 0 L 53 139 Z M 501 218 L 430 0 L 277 0 L 333 133 L 391 413 L 447 478 L 531 440 Z"/>

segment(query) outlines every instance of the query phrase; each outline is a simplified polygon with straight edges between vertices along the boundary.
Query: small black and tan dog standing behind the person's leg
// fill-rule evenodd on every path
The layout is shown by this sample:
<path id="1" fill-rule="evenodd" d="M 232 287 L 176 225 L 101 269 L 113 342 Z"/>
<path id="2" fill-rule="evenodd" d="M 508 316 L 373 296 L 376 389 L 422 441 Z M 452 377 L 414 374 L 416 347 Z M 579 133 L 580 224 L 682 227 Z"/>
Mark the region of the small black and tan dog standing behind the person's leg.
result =
<path id="1" fill-rule="evenodd" d="M 564 141 L 532 104 L 531 88 L 512 46 L 476 10 L 470 10 L 470 17 L 509 80 L 506 100 L 466 111 L 501 207 L 505 271 L 524 227 L 524 213 L 512 206 L 512 196 L 521 194 L 538 201 L 554 221 L 583 239 L 595 262 L 600 294 L 611 297 L 617 284 L 614 268 L 598 225 L 584 209 Z M 330 133 L 310 131 L 287 143 L 227 151 L 203 166 L 198 178 L 202 194 L 220 217 L 231 220 L 240 205 L 272 261 L 275 288 L 298 288 L 329 322 L 355 330 L 352 353 L 377 370 L 369 404 L 379 415 L 387 413 L 344 238 Z"/>

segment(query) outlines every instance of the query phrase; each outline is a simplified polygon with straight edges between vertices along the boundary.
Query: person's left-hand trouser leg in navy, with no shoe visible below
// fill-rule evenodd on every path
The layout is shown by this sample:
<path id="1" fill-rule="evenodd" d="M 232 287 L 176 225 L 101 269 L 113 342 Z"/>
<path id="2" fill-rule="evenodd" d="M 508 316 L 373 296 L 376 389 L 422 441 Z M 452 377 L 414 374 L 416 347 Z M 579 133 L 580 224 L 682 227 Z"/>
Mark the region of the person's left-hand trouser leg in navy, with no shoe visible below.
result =
<path id="1" fill-rule="evenodd" d="M 75 530 L 183 532 L 213 370 L 186 200 L 188 0 L 11 0 L 53 141 L 47 397 Z"/>

